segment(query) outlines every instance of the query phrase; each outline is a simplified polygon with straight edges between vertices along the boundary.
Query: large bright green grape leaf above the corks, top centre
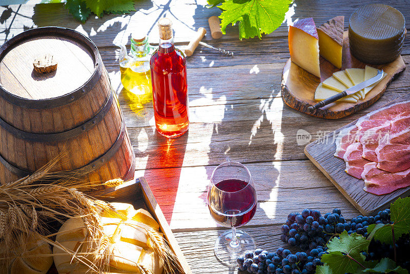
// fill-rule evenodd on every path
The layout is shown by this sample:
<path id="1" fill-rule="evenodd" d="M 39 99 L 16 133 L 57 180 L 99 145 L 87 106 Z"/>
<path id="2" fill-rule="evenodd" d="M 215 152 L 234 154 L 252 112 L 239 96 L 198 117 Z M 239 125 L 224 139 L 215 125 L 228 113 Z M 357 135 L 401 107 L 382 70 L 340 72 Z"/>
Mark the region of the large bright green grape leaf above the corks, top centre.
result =
<path id="1" fill-rule="evenodd" d="M 286 11 L 293 0 L 227 0 L 219 6 L 222 9 L 221 31 L 229 24 L 239 22 L 239 39 L 269 34 L 283 22 Z"/>

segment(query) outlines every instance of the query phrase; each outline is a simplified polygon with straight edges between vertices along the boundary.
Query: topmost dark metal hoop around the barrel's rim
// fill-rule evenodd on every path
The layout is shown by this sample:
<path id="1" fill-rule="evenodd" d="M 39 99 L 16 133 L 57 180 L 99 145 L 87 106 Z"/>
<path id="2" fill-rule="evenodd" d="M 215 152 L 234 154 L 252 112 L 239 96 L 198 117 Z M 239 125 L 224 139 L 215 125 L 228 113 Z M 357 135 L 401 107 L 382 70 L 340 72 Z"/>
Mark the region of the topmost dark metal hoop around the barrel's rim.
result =
<path id="1" fill-rule="evenodd" d="M 3 97 L 5 100 L 10 102 L 13 105 L 17 105 L 19 107 L 25 107 L 29 109 L 48 109 L 48 108 L 55 108 L 61 107 L 71 102 L 74 102 L 81 97 L 84 97 L 93 87 L 97 84 L 101 75 L 103 75 L 103 62 L 101 61 L 101 56 L 98 53 L 98 49 L 95 44 L 90 40 L 90 38 L 84 36 L 83 34 L 69 28 L 63 27 L 41 27 L 35 29 L 29 29 L 22 33 L 17 34 L 16 36 L 10 38 L 6 43 L 4 43 L 0 47 L 0 61 L 3 59 L 4 55 L 8 52 L 12 45 L 16 45 L 19 42 L 24 41 L 26 38 L 35 37 L 42 34 L 55 34 L 59 36 L 69 36 L 73 38 L 76 42 L 81 44 L 85 44 L 90 48 L 92 54 L 94 55 L 94 72 L 91 75 L 90 79 L 83 85 L 77 88 L 76 90 L 67 93 L 62 96 L 49 98 L 49 99 L 40 99 L 40 100 L 32 100 L 28 98 L 23 98 L 8 92 L 1 84 L 0 84 L 0 97 Z"/>

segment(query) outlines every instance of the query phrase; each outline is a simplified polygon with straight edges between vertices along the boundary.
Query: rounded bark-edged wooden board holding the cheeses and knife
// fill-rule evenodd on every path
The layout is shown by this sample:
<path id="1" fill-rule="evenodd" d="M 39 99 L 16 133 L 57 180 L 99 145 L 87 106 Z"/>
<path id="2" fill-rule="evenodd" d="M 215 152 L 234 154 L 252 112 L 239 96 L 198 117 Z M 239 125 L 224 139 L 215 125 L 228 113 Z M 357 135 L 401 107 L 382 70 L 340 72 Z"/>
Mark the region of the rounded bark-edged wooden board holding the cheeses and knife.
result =
<path id="1" fill-rule="evenodd" d="M 348 32 L 343 34 L 343 51 L 342 51 L 342 68 L 364 68 L 365 63 L 357 60 L 350 52 Z M 284 103 L 291 108 L 303 113 L 325 119 L 339 119 L 351 115 L 363 108 L 371 106 L 380 99 L 386 90 L 387 85 L 393 80 L 394 76 L 403 71 L 406 66 L 401 56 L 397 57 L 392 63 L 384 65 L 370 65 L 378 69 L 383 69 L 387 73 L 386 77 L 380 81 L 370 92 L 366 94 L 363 100 L 357 103 L 335 102 L 325 107 L 319 108 L 313 112 L 308 110 L 309 106 L 316 104 L 314 94 L 316 87 L 332 76 L 340 69 L 336 68 L 330 62 L 320 57 L 320 79 L 319 77 L 302 69 L 289 58 L 282 71 L 282 99 Z"/>

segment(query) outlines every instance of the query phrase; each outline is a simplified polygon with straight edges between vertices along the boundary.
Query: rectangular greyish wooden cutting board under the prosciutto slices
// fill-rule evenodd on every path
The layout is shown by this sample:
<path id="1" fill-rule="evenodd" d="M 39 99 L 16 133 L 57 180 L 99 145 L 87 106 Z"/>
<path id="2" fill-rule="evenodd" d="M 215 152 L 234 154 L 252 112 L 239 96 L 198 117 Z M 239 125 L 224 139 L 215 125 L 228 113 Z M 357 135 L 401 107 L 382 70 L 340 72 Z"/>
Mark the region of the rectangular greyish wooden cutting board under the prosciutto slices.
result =
<path id="1" fill-rule="evenodd" d="M 410 94 L 404 95 L 388 104 L 410 100 Z M 304 149 L 304 153 L 317 166 L 320 171 L 339 189 L 339 191 L 351 202 L 362 214 L 369 215 L 377 213 L 381 209 L 388 208 L 390 203 L 399 197 L 410 195 L 410 187 L 400 188 L 384 195 L 375 195 L 363 190 L 364 181 L 349 174 L 344 169 L 344 161 L 333 154 L 336 151 L 334 136 L 344 128 L 354 125 L 356 121 L 327 134 L 322 139 L 316 140 Z M 327 141 L 326 141 L 327 140 Z M 323 197 L 323 199 L 326 199 Z"/>

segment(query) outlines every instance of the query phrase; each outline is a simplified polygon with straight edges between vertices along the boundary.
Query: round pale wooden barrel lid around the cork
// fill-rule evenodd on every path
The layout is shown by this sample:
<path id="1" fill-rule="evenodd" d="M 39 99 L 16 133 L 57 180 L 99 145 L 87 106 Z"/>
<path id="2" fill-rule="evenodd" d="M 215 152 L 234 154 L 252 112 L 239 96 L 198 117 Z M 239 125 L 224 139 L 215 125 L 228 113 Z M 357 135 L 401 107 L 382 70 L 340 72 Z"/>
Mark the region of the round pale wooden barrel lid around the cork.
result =
<path id="1" fill-rule="evenodd" d="M 98 52 L 78 32 L 48 27 L 21 34 L 0 50 L 0 86 L 11 95 L 28 100 L 67 95 L 89 81 L 96 70 Z M 55 71 L 42 74 L 34 70 L 33 61 L 44 54 L 58 60 Z"/>

